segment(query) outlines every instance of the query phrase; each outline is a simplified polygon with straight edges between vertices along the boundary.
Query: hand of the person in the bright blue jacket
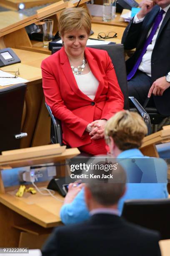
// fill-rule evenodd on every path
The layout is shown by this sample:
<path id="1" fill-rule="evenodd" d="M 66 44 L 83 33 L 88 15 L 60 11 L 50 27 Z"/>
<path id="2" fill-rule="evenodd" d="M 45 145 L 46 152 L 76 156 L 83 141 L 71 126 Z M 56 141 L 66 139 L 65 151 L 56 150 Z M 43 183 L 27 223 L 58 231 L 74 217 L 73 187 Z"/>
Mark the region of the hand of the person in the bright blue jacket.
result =
<path id="1" fill-rule="evenodd" d="M 76 197 L 76 195 L 80 192 L 82 187 L 84 187 L 84 183 L 81 183 L 80 185 L 77 183 L 70 183 L 68 185 L 68 192 L 64 200 L 65 204 L 70 204 Z"/>

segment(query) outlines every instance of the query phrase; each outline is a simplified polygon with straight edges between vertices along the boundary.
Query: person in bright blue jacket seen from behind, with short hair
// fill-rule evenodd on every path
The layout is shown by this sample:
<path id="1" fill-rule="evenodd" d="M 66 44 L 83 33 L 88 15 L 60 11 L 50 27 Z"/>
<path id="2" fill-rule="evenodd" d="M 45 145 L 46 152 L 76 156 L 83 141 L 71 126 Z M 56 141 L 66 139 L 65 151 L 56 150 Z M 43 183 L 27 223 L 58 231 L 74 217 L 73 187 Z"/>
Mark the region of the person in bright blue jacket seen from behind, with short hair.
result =
<path id="1" fill-rule="evenodd" d="M 147 127 L 143 119 L 137 113 L 120 111 L 110 118 L 105 126 L 105 140 L 107 151 L 113 158 L 117 158 L 125 171 L 129 168 L 129 160 L 135 159 L 142 173 L 141 183 L 128 183 L 125 195 L 118 203 L 121 214 L 123 203 L 129 199 L 154 199 L 167 198 L 167 164 L 163 159 L 154 159 L 144 156 L 138 149 L 147 133 Z M 129 160 L 128 160 L 129 159 Z M 141 161 L 145 159 L 145 161 Z M 150 181 L 149 174 L 152 174 Z M 155 183 L 154 175 L 156 177 Z M 148 183 L 147 183 L 148 181 Z M 159 182 L 159 183 L 156 183 Z M 67 225 L 78 223 L 89 218 L 84 200 L 83 186 L 75 186 L 70 183 L 64 204 L 60 210 L 60 218 Z"/>

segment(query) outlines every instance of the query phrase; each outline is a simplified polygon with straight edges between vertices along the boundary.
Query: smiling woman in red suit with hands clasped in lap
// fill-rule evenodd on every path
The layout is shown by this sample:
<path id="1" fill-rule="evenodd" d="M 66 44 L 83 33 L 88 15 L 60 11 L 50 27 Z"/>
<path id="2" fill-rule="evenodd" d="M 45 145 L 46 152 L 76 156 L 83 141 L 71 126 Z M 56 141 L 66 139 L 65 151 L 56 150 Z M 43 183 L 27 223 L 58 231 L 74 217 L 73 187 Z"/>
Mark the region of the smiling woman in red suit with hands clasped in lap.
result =
<path id="1" fill-rule="evenodd" d="M 84 8 L 65 9 L 58 27 L 63 47 L 41 65 L 45 102 L 62 121 L 66 145 L 106 154 L 105 123 L 124 104 L 112 61 L 86 47 L 91 20 Z"/>

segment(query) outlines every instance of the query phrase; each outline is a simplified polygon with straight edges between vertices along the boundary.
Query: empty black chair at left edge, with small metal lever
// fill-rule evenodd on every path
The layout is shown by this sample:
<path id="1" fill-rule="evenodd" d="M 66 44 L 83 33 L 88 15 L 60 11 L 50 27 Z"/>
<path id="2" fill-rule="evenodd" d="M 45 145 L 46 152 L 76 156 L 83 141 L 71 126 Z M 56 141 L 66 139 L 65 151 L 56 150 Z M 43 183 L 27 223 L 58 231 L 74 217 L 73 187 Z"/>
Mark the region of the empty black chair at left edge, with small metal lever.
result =
<path id="1" fill-rule="evenodd" d="M 0 153 L 20 148 L 21 122 L 26 84 L 15 84 L 0 89 Z"/>

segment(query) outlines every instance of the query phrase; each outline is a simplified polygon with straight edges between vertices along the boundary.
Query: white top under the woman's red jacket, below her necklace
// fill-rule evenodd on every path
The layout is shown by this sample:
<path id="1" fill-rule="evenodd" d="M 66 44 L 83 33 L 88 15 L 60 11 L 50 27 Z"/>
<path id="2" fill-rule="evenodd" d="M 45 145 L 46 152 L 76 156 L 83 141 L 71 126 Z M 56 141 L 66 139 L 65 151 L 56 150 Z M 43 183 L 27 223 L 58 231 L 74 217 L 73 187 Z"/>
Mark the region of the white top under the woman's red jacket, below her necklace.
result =
<path id="1" fill-rule="evenodd" d="M 74 76 L 80 91 L 87 95 L 91 100 L 94 100 L 99 85 L 99 81 L 92 74 L 91 70 L 87 74 L 74 74 Z"/>

